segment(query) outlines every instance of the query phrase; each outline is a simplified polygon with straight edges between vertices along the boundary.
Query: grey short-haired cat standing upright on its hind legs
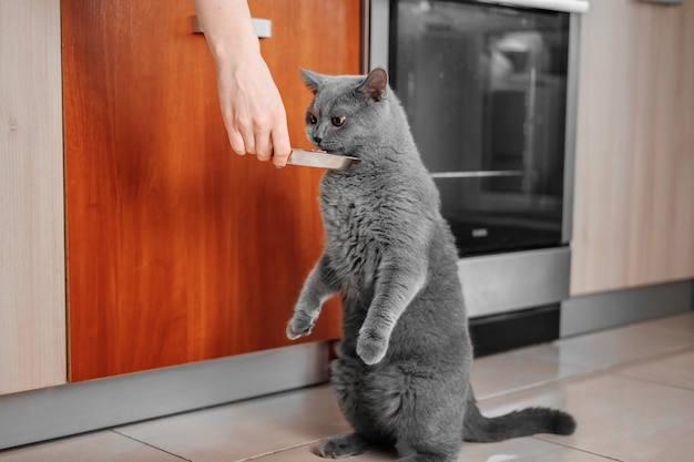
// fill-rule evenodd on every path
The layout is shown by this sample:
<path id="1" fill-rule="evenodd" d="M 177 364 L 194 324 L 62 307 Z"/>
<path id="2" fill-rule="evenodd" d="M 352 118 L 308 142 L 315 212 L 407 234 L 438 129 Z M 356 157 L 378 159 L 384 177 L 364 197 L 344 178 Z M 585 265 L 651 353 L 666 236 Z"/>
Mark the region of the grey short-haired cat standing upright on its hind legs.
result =
<path id="1" fill-rule="evenodd" d="M 415 452 L 402 461 L 455 461 L 463 439 L 571 434 L 575 422 L 562 411 L 480 413 L 453 236 L 386 71 L 303 74 L 315 95 L 306 112 L 312 143 L 361 160 L 323 177 L 327 243 L 287 327 L 290 339 L 307 336 L 323 302 L 340 294 L 344 338 L 331 381 L 355 432 L 328 440 L 319 455 L 399 440 Z"/>

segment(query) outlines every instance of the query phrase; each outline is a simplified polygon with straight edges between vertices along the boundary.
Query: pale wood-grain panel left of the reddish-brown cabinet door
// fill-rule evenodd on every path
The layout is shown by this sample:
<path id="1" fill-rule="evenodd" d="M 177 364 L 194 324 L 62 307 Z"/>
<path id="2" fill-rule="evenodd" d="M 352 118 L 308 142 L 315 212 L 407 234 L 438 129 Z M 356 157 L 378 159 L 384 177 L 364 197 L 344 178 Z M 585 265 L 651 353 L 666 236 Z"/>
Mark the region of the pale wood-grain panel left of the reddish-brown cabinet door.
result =
<path id="1" fill-rule="evenodd" d="M 0 394 L 64 383 L 59 0 L 0 2 Z"/>

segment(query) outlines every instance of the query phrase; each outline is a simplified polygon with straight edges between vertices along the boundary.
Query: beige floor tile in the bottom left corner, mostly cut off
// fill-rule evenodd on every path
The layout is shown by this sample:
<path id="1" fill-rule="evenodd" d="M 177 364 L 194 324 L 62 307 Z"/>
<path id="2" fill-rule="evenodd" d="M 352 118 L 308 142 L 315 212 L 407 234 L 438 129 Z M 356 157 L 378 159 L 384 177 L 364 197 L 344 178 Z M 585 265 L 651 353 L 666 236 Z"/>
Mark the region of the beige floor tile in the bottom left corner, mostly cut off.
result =
<path id="1" fill-rule="evenodd" d="M 2 462 L 181 462 L 130 438 L 105 431 L 0 452 Z"/>

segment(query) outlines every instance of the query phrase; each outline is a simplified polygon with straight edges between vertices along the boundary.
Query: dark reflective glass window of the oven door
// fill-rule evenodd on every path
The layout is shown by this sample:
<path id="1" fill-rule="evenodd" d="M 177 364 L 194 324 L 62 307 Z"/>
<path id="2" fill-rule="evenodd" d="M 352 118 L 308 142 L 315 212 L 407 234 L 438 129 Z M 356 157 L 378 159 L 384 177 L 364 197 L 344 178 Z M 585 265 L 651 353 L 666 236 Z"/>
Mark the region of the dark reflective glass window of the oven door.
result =
<path id="1" fill-rule="evenodd" d="M 569 14 L 396 0 L 390 33 L 460 256 L 562 245 Z"/>

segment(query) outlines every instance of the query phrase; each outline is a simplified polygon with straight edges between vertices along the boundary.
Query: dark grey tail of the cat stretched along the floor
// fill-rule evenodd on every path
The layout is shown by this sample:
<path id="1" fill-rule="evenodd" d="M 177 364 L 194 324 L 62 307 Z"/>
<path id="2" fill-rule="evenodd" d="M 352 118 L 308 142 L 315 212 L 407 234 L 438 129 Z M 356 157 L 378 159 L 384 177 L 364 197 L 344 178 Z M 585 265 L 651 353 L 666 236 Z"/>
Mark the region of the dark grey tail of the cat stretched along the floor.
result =
<path id="1" fill-rule="evenodd" d="M 491 443 L 535 433 L 571 434 L 575 420 L 567 412 L 548 408 L 527 408 L 508 414 L 482 415 L 472 393 L 465 417 L 463 440 Z"/>

